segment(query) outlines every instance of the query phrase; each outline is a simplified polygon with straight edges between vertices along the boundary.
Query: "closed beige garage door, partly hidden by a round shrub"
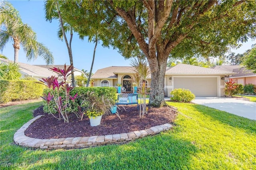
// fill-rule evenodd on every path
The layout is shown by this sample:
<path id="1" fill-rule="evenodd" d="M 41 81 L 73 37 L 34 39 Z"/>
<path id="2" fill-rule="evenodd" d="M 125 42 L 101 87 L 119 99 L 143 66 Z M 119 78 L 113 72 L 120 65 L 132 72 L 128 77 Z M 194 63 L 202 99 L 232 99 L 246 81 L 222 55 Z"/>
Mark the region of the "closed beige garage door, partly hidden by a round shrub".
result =
<path id="1" fill-rule="evenodd" d="M 189 89 L 195 96 L 217 96 L 217 78 L 174 78 L 174 89 Z"/>

